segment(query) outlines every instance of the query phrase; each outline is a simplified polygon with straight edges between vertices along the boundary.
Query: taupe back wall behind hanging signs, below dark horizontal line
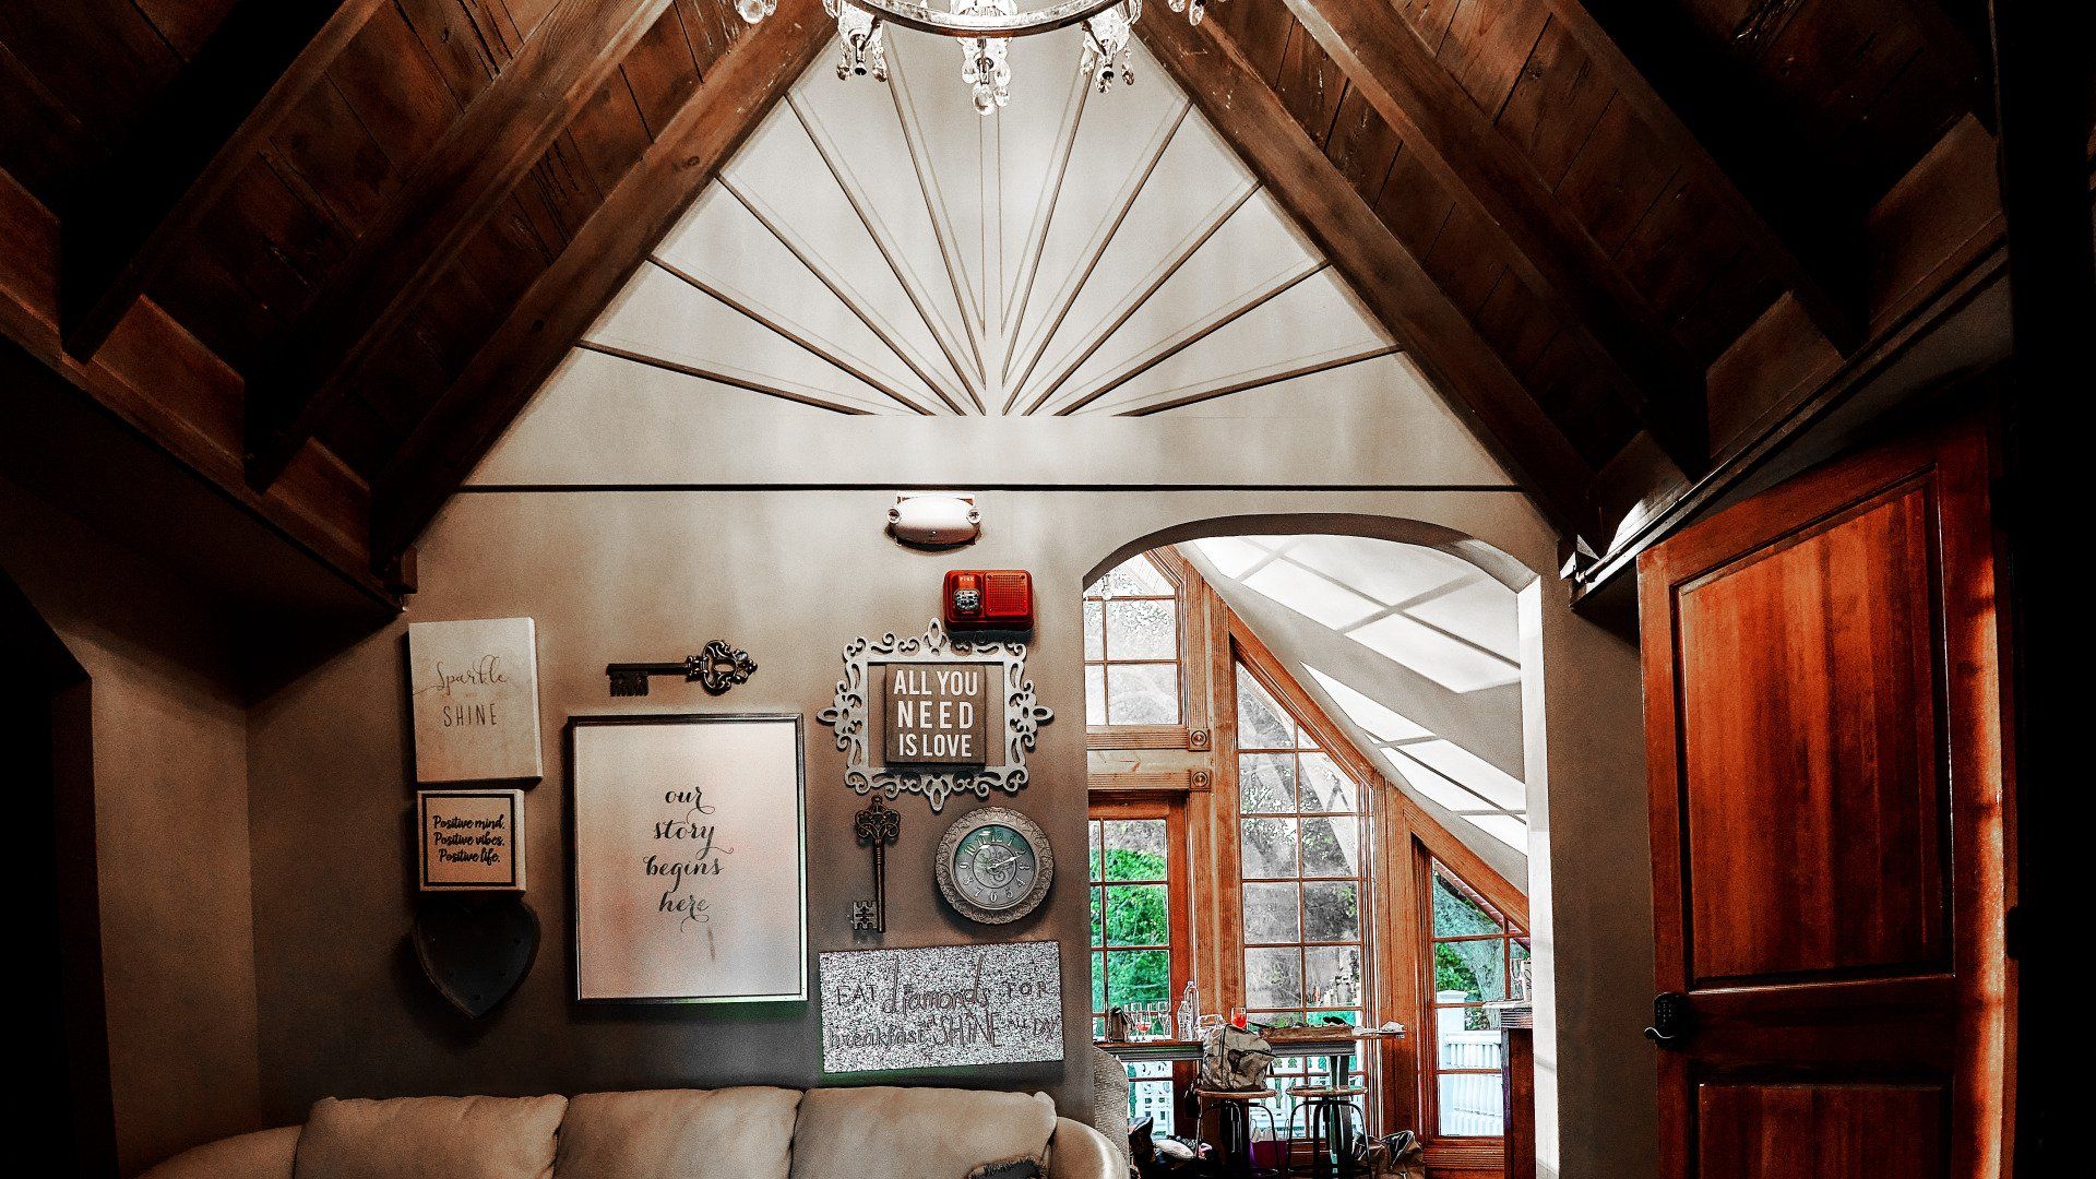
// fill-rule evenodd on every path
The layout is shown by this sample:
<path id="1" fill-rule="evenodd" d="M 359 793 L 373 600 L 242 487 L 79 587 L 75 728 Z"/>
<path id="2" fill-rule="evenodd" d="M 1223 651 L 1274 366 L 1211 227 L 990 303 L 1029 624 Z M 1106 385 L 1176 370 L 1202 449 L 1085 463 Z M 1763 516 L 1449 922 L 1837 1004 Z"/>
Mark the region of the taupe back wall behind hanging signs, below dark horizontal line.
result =
<path id="1" fill-rule="evenodd" d="M 1067 856 L 1084 839 L 1084 707 L 1077 634 L 1084 577 L 1123 539 L 1237 512 L 1383 510 L 1503 516 L 1507 495 L 1457 493 L 983 493 L 985 539 L 966 554 L 918 554 L 882 533 L 876 491 L 553 491 L 453 501 L 425 537 L 413 619 L 530 615 L 539 621 L 547 766 L 562 766 L 572 713 L 796 711 L 809 715 L 809 921 L 813 948 L 847 948 L 868 862 L 849 816 L 864 799 L 813 713 L 828 705 L 843 646 L 859 634 L 920 629 L 939 575 L 956 564 L 1025 566 L 1040 590 L 1031 676 L 1058 722 L 1042 734 L 1033 783 L 1012 806 Z M 1505 508 L 1518 508 L 1505 514 Z M 650 1085 L 820 1080 L 815 1007 L 581 1009 L 570 1003 L 564 780 L 526 799 L 528 902 L 545 925 L 524 988 L 480 1024 L 440 1005 L 413 967 L 405 621 L 260 701 L 252 713 L 252 831 L 262 1091 L 272 1120 L 323 1095 L 532 1093 Z M 746 646 L 750 684 L 713 701 L 658 682 L 641 701 L 606 694 L 604 663 L 669 659 L 708 638 Z M 933 818 L 903 801 L 889 858 L 885 944 L 1056 938 L 1082 946 L 1086 898 L 1065 879 L 1014 927 L 962 921 L 937 898 L 931 854 L 962 806 Z M 939 1080 L 1046 1089 L 1090 1108 L 1082 955 L 1065 959 L 1067 1066 L 1012 1066 Z"/>

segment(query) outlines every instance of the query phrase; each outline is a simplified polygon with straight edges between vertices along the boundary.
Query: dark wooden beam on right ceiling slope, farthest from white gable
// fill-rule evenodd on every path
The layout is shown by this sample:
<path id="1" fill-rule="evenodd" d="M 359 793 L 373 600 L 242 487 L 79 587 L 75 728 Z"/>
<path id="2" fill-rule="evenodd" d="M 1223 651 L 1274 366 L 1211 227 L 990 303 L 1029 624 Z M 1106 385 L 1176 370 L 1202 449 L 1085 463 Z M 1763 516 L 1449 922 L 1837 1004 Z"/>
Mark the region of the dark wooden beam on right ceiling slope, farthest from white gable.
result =
<path id="1" fill-rule="evenodd" d="M 1767 126 L 1767 109 L 1742 101 L 1752 92 L 1744 71 L 1723 50 L 1704 46 L 1675 4 L 1549 0 L 1549 6 L 1551 19 L 1566 25 L 1652 130 L 1656 147 L 1685 159 L 1719 208 L 1748 227 L 1813 327 L 1842 352 L 1861 346 L 1863 210 L 1832 208 L 1826 176 L 1800 168 L 1794 145 Z M 1610 13 L 1610 27 L 1589 10 L 1595 6 Z M 1618 44 L 1618 34 L 1626 42 L 1635 34 L 1635 44 Z M 1650 76 L 1626 48 L 1650 63 Z M 1677 111 L 1654 84 L 1666 86 L 1677 101 L 1698 97 L 1696 109 Z M 1689 130 L 1683 113 L 1698 115 L 1704 130 L 1715 132 L 1712 143 L 1731 145 L 1723 162 Z"/>

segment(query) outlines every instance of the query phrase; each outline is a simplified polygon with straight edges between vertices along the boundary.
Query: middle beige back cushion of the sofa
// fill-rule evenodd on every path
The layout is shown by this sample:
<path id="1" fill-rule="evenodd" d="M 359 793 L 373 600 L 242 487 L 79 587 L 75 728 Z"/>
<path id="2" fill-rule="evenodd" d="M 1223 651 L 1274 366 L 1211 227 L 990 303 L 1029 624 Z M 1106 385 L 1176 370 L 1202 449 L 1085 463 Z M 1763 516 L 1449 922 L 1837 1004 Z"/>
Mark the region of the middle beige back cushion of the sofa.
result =
<path id="1" fill-rule="evenodd" d="M 560 1124 L 555 1179 L 786 1179 L 794 1089 L 583 1093 Z"/>

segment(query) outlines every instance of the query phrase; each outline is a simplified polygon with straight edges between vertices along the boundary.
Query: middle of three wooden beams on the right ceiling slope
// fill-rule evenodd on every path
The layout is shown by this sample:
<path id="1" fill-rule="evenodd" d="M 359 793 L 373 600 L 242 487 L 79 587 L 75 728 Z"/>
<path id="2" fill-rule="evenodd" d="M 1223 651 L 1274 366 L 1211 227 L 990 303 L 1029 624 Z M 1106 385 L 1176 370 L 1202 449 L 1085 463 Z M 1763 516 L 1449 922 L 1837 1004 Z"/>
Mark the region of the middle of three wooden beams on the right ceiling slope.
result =
<path id="1" fill-rule="evenodd" d="M 1710 457 L 1704 365 L 1396 8 L 1388 0 L 1287 0 L 1287 6 L 1404 141 L 1404 151 L 1492 227 L 1515 275 L 1559 321 L 1597 344 L 1675 466 L 1702 472 Z"/>

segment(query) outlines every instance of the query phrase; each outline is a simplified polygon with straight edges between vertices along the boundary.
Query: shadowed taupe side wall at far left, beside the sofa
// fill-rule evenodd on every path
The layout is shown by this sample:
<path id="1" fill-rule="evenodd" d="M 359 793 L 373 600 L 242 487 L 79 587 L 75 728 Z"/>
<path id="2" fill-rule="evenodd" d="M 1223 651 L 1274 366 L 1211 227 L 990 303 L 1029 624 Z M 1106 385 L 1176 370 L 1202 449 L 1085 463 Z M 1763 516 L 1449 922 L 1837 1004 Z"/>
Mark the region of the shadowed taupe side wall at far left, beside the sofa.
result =
<path id="1" fill-rule="evenodd" d="M 6 480 L 0 566 L 90 676 L 111 1089 L 128 1175 L 262 1116 L 237 631 L 222 602 Z"/>

